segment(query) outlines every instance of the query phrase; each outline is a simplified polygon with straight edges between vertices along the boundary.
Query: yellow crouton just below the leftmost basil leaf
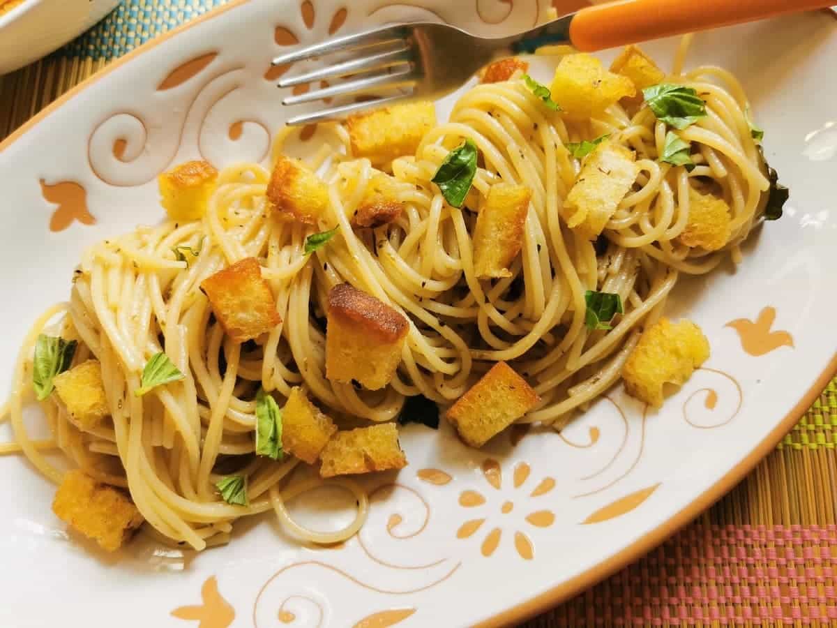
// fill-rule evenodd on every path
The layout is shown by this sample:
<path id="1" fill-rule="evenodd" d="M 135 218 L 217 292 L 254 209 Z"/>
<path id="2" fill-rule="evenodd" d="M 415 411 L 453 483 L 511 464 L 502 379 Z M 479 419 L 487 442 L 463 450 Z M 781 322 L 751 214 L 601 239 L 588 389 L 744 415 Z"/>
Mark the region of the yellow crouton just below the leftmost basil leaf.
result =
<path id="1" fill-rule="evenodd" d="M 91 430 L 110 414 L 98 360 L 88 360 L 53 378 L 55 394 L 70 419 L 82 430 Z"/>

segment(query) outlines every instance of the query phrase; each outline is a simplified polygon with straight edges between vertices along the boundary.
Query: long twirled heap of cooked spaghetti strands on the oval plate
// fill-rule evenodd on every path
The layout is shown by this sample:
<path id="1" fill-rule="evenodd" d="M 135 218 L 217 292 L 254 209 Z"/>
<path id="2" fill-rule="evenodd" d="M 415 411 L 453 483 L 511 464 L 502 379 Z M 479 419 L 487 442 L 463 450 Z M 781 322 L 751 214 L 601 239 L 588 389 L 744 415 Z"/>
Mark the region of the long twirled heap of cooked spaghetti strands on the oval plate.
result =
<path id="1" fill-rule="evenodd" d="M 648 106 L 632 111 L 616 104 L 603 116 L 569 122 L 517 79 L 476 85 L 414 155 L 391 163 L 394 199 L 404 211 L 383 226 L 352 228 L 351 217 L 377 171 L 368 159 L 351 157 L 343 126 L 333 127 L 338 144 L 322 147 L 309 164 L 329 190 L 331 213 L 318 228 L 270 217 L 270 172 L 261 165 L 224 169 L 203 219 L 140 227 L 85 252 L 69 303 L 46 311 L 24 339 L 8 404 L 17 444 L 3 445 L 0 453 L 21 450 L 59 482 L 62 472 L 43 454 L 58 447 L 96 480 L 126 487 L 157 536 L 203 549 L 225 542 L 238 517 L 271 509 L 285 527 L 315 543 L 352 536 L 366 516 L 365 492 L 340 479 L 358 504 L 347 528 L 321 533 L 291 519 L 285 502 L 321 481 L 289 481 L 294 458 L 253 456 L 259 388 L 287 398 L 303 386 L 338 423 L 347 416 L 379 423 L 395 419 L 408 396 L 452 404 L 491 364 L 504 361 L 541 398 L 522 420 L 560 429 L 619 380 L 642 327 L 660 317 L 679 275 L 707 273 L 727 255 L 739 260 L 739 246 L 760 218 L 769 182 L 752 139 L 746 96 L 721 69 L 680 74 L 684 54 L 666 80 L 691 87 L 706 103 L 706 116 L 680 131 L 693 147 L 691 171 L 660 161 L 666 126 Z M 559 216 L 581 167 L 567 145 L 603 135 L 635 153 L 639 176 L 603 239 L 591 242 Z M 285 137 L 276 141 L 277 154 Z M 475 275 L 476 214 L 467 209 L 475 203 L 455 208 L 431 183 L 466 139 L 475 143 L 482 164 L 471 200 L 484 198 L 498 182 L 531 190 L 521 255 L 509 267 L 511 276 L 496 281 Z M 696 185 L 718 193 L 731 210 L 730 235 L 720 250 L 680 240 Z M 334 227 L 336 236 L 306 255 L 306 237 Z M 177 260 L 177 247 L 200 252 Z M 259 259 L 282 322 L 241 344 L 224 333 L 199 286 L 246 257 Z M 326 378 L 321 320 L 328 291 L 342 282 L 409 320 L 402 362 L 385 389 Z M 586 291 L 619 295 L 624 314 L 611 330 L 585 324 Z M 42 405 L 54 438 L 31 440 L 22 409 L 31 394 L 33 345 L 50 324 L 79 342 L 75 363 L 100 361 L 112 422 L 80 430 L 47 399 Z M 143 365 L 162 351 L 185 378 L 137 397 Z M 247 478 L 247 506 L 220 501 L 214 490 L 230 468 Z"/>

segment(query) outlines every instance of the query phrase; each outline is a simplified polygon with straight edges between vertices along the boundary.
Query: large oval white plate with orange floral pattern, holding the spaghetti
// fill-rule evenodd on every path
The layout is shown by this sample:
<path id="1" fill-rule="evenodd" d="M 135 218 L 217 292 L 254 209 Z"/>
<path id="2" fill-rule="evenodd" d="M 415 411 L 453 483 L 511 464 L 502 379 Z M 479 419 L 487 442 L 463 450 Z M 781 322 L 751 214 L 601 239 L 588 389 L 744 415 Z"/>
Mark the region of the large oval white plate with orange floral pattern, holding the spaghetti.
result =
<path id="1" fill-rule="evenodd" d="M 0 382 L 36 313 L 68 295 L 85 245 L 161 218 L 158 172 L 199 155 L 264 158 L 288 115 L 270 69 L 280 49 L 408 18 L 509 32 L 546 4 L 234 0 L 96 75 L 0 147 Z M 742 78 L 792 198 L 737 269 L 679 286 L 669 313 L 701 325 L 712 357 L 659 413 L 616 389 L 562 435 L 514 429 L 483 451 L 446 425 L 409 426 L 409 466 L 372 480 L 370 521 L 334 549 L 300 548 L 264 518 L 197 557 L 141 539 L 105 556 L 65 532 L 47 481 L 3 458 L 0 625 L 511 622 L 660 543 L 732 488 L 834 373 L 835 31 L 823 12 L 696 37 L 689 64 Z M 667 63 L 674 46 L 647 49 Z M 321 497 L 297 511 L 334 512 L 340 496 Z"/>

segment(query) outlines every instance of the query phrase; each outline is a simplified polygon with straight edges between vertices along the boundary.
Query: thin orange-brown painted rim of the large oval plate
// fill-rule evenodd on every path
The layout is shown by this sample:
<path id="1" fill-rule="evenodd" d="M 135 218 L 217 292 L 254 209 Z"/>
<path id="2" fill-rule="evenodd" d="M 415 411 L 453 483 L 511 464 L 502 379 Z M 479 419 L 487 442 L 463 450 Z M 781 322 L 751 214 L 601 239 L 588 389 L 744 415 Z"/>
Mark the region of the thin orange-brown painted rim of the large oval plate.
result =
<path id="1" fill-rule="evenodd" d="M 37 2 L 38 0 L 33 0 L 33 4 Z M 204 21 L 218 18 L 223 13 L 227 13 L 234 8 L 239 8 L 249 2 L 251 0 L 229 0 L 228 3 L 214 7 L 207 13 L 199 15 L 187 23 L 182 23 L 167 33 L 157 35 L 154 39 L 150 39 L 145 44 L 141 44 L 120 58 L 113 59 L 94 75 L 91 75 L 63 95 L 60 95 L 58 99 L 49 103 L 48 106 L 45 106 L 44 109 L 13 131 L 3 142 L 0 142 L 0 155 L 14 143 L 18 142 L 28 131 L 31 131 L 40 122 L 48 118 L 54 111 L 58 111 L 61 107 L 67 105 L 76 95 L 79 95 L 96 81 L 105 78 L 105 76 L 114 70 L 121 68 L 123 64 L 130 62 L 141 54 L 145 54 L 155 46 L 162 44 L 167 39 L 176 37 L 189 28 L 194 28 Z M 23 6 L 26 6 L 26 4 L 28 3 L 24 3 Z M 834 17 L 837 17 L 837 15 Z M 767 436 L 754 445 L 747 456 L 744 456 L 742 460 L 738 461 L 721 479 L 717 480 L 706 491 L 689 502 L 686 507 L 681 508 L 680 511 L 675 512 L 671 517 L 657 524 L 654 528 L 637 538 L 633 543 L 629 543 L 620 549 L 619 552 L 609 556 L 608 559 L 593 565 L 593 567 L 586 569 L 581 574 L 573 576 L 571 579 L 565 580 L 561 584 L 557 584 L 538 595 L 523 600 L 516 605 L 512 605 L 506 610 L 502 610 L 489 619 L 481 620 L 475 624 L 475 627 L 493 628 L 494 626 L 508 625 L 514 622 L 525 621 L 536 615 L 548 612 L 555 606 L 572 598 L 573 595 L 577 595 L 584 589 L 588 589 L 603 579 L 617 573 L 620 569 L 624 569 L 624 567 L 641 558 L 644 554 L 649 553 L 653 548 L 660 545 L 660 543 L 665 542 L 665 539 L 673 536 L 680 528 L 686 527 L 701 512 L 706 511 L 713 503 L 717 502 L 721 497 L 724 497 L 727 492 L 730 492 L 739 481 L 742 481 L 747 473 L 752 471 L 763 458 L 768 456 L 770 451 L 778 445 L 778 442 L 782 440 L 784 435 L 788 434 L 793 428 L 793 425 L 798 423 L 805 412 L 814 404 L 814 401 L 822 394 L 829 382 L 835 377 L 837 377 L 837 351 L 833 353 L 823 372 L 819 374 L 819 377 L 814 380 L 814 383 L 804 392 L 783 420 L 779 421 Z"/>

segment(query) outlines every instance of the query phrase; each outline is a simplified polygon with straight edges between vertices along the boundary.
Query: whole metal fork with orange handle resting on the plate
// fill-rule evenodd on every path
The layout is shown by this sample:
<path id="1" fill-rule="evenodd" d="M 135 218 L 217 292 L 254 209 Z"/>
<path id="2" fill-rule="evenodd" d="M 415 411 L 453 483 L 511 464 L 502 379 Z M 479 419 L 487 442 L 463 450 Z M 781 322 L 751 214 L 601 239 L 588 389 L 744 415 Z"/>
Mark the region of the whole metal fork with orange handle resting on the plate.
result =
<path id="1" fill-rule="evenodd" d="M 336 120 L 394 100 L 435 100 L 458 89 L 491 61 L 533 53 L 551 44 L 593 52 L 624 44 L 750 22 L 782 13 L 829 7 L 834 0 L 620 0 L 583 8 L 511 37 L 485 38 L 440 23 L 405 23 L 329 39 L 282 54 L 275 65 L 337 52 L 352 59 L 279 81 L 282 88 L 344 79 L 335 85 L 290 95 L 299 105 L 347 95 L 398 90 L 394 95 L 334 106 L 291 117 L 289 125 Z M 357 56 L 355 56 L 357 55 Z"/>

